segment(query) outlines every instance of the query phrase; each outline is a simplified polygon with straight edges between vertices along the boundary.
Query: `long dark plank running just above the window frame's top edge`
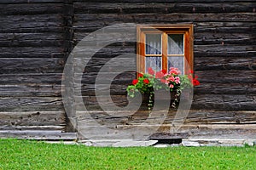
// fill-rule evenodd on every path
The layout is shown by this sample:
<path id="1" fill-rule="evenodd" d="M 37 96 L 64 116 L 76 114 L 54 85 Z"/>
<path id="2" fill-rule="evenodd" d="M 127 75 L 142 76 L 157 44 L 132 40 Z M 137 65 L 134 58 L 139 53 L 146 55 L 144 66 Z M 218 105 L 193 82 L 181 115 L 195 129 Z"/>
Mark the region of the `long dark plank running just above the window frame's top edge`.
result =
<path id="1" fill-rule="evenodd" d="M 108 23 L 114 21 L 136 22 L 136 23 L 160 23 L 160 22 L 253 22 L 256 19 L 253 13 L 206 13 L 206 14 L 188 14 L 188 13 L 172 13 L 160 14 L 76 14 L 74 17 L 74 26 L 83 26 L 82 23 L 93 20 L 106 20 Z M 107 23 L 107 24 L 108 24 Z"/>

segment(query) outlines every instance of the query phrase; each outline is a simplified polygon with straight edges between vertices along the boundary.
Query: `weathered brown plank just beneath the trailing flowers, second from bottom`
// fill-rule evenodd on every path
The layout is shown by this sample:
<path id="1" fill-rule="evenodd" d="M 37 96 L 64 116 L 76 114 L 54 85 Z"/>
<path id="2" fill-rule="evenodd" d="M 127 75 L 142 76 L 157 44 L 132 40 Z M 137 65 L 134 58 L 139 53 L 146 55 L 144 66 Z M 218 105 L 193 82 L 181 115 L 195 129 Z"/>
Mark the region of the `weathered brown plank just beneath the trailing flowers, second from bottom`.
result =
<path id="1" fill-rule="evenodd" d="M 146 120 L 152 120 L 157 124 L 171 124 L 177 111 L 169 111 L 166 115 L 165 122 L 162 118 L 166 111 L 158 111 L 157 116 L 149 116 L 148 111 L 79 111 L 77 113 L 78 121 L 87 121 L 88 114 L 90 119 L 101 125 L 140 125 Z M 184 123 L 194 124 L 251 124 L 256 122 L 255 111 L 189 111 L 189 115 L 185 118 Z"/>

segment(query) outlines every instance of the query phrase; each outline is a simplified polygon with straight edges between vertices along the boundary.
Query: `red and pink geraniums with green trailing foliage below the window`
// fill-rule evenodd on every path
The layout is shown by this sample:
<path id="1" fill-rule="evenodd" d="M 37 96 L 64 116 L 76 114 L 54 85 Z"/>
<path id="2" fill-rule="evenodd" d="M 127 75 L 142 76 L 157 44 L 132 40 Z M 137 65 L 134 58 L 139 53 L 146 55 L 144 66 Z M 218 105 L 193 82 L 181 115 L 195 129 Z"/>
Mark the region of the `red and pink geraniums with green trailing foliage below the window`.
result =
<path id="1" fill-rule="evenodd" d="M 138 74 L 138 78 L 132 81 L 132 85 L 126 88 L 129 97 L 134 98 L 137 94 L 149 94 L 148 110 L 151 110 L 154 103 L 154 90 L 161 88 L 166 92 L 175 92 L 175 99 L 172 102 L 172 108 L 176 108 L 179 103 L 179 96 L 186 88 L 192 88 L 193 85 L 199 85 L 200 82 L 193 78 L 192 72 L 189 75 L 182 75 L 175 67 L 171 67 L 170 71 L 153 71 L 148 68 L 148 73 Z M 194 83 L 195 81 L 195 83 Z"/>

